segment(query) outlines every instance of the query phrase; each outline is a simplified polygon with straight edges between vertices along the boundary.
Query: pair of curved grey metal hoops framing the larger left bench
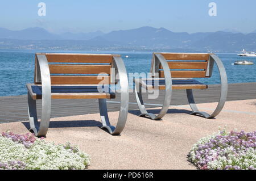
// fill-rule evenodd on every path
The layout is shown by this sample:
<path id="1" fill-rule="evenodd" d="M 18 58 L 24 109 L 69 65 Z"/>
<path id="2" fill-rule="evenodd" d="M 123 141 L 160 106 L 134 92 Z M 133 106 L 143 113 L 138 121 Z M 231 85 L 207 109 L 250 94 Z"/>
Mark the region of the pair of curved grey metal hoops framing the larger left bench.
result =
<path id="1" fill-rule="evenodd" d="M 46 55 L 37 54 L 37 73 L 42 80 L 42 113 L 40 124 L 36 112 L 36 99 L 32 98 L 31 92 L 28 91 L 28 116 L 30 121 L 30 131 L 34 132 L 38 137 L 44 137 L 49 128 L 51 117 L 51 77 Z M 123 131 L 127 120 L 129 106 L 129 87 L 125 64 L 120 56 L 113 56 L 113 66 L 115 72 L 110 74 L 111 79 L 115 79 L 117 72 L 119 73 L 119 82 L 121 87 L 121 107 L 119 111 L 116 127 L 110 124 L 108 117 L 108 109 L 106 99 L 98 99 L 100 107 L 100 116 L 102 121 L 102 129 L 107 129 L 110 134 L 118 135 Z"/>

